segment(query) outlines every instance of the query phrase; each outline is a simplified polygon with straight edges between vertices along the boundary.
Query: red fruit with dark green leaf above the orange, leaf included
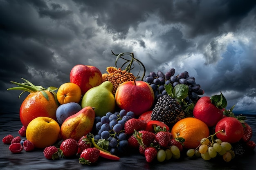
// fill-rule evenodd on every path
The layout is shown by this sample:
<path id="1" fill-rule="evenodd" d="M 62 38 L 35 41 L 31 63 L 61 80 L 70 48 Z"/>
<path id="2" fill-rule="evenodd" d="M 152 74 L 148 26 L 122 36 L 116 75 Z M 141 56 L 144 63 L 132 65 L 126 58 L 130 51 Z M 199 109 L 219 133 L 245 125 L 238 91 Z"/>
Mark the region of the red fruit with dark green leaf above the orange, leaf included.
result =
<path id="1" fill-rule="evenodd" d="M 193 116 L 200 119 L 208 127 L 213 127 L 223 117 L 223 108 L 227 106 L 227 100 L 220 95 L 204 96 L 198 99 L 193 109 Z"/>

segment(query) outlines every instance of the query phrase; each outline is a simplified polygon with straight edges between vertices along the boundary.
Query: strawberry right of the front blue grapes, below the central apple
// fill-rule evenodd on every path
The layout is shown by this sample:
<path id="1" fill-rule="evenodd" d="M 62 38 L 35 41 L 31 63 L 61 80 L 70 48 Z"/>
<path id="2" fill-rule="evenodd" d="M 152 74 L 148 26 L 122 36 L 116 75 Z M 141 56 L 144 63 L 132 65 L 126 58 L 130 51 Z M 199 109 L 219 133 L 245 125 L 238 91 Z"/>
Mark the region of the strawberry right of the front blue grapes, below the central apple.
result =
<path id="1" fill-rule="evenodd" d="M 145 130 L 146 126 L 147 122 L 145 120 L 132 118 L 126 121 L 126 123 L 124 124 L 124 132 L 127 135 L 131 135 L 134 130 Z"/>

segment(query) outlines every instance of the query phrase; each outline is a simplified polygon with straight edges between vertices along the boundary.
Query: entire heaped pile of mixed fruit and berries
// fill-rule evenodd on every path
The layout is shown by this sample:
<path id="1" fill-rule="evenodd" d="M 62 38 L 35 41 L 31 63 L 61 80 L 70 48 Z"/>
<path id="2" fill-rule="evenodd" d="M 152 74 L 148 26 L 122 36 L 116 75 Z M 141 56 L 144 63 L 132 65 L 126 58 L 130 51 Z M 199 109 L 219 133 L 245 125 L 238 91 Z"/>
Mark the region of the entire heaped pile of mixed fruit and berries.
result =
<path id="1" fill-rule="evenodd" d="M 81 164 L 99 157 L 118 161 L 131 150 L 149 163 L 182 154 L 228 162 L 254 150 L 246 117 L 235 116 L 234 106 L 227 110 L 221 92 L 199 97 L 204 91 L 187 71 L 151 71 L 144 78 L 145 67 L 133 53 L 113 55 L 116 67 L 107 67 L 108 73 L 79 64 L 59 88 L 11 82 L 17 87 L 7 90 L 30 94 L 20 106 L 20 136 L 7 135 L 3 143 L 12 153 L 39 148 L 46 159 L 78 157 Z M 125 69 L 117 67 L 119 59 Z M 133 62 L 144 68 L 141 80 L 130 73 Z"/>

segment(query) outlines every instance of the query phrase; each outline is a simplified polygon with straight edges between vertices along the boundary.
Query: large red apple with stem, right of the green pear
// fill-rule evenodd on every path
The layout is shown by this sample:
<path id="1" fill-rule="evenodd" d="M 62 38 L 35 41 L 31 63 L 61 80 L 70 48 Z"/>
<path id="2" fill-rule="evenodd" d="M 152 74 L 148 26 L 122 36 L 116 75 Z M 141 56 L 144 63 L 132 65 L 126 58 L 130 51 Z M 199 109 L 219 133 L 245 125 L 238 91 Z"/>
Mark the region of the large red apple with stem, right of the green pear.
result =
<path id="1" fill-rule="evenodd" d="M 139 116 L 151 109 L 155 95 L 148 83 L 134 79 L 118 86 L 115 100 L 119 108 L 132 111 L 135 116 Z"/>

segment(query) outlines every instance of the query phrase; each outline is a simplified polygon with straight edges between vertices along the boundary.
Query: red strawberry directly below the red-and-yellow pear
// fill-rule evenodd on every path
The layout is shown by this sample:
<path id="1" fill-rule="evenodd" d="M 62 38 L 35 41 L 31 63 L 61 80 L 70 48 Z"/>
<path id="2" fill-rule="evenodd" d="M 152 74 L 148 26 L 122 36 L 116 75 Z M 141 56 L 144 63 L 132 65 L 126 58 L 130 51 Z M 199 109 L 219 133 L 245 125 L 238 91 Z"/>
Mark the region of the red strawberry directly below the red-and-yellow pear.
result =
<path id="1" fill-rule="evenodd" d="M 78 151 L 77 141 L 72 138 L 65 139 L 61 143 L 60 149 L 62 150 L 63 155 L 65 157 L 72 157 L 72 156 L 76 155 L 76 153 Z"/>

